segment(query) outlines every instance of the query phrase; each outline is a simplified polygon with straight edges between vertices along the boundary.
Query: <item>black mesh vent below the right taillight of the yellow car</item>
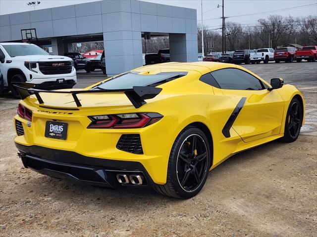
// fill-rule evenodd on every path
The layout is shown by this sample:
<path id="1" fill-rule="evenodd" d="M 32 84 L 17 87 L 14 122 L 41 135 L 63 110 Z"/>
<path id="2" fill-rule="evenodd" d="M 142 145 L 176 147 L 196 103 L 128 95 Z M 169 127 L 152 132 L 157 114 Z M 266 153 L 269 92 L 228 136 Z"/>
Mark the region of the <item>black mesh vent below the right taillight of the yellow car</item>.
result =
<path id="1" fill-rule="evenodd" d="M 133 154 L 143 154 L 140 134 L 121 135 L 116 148 Z"/>

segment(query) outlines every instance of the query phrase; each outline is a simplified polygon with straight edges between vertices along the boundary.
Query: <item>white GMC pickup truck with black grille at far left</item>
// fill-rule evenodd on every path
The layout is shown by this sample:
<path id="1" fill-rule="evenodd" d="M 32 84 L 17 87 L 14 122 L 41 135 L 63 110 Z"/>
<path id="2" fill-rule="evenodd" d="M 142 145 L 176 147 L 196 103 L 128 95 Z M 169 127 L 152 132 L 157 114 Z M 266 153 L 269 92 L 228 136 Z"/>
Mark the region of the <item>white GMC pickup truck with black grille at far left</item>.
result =
<path id="1" fill-rule="evenodd" d="M 41 89 L 69 89 L 77 81 L 74 62 L 65 56 L 54 56 L 35 44 L 0 43 L 0 71 L 4 91 L 11 91 L 11 82 L 28 82 Z"/>

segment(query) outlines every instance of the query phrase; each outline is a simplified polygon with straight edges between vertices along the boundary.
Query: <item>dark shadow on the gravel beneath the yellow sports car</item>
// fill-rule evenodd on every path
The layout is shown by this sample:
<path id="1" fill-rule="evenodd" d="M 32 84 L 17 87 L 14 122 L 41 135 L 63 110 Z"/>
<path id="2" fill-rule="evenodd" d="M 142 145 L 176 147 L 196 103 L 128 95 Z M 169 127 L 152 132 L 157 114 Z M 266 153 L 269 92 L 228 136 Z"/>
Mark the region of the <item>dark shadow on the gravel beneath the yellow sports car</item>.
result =
<path id="1" fill-rule="evenodd" d="M 232 170 L 239 169 L 240 166 L 245 167 L 244 163 L 258 159 L 259 155 L 265 156 L 265 154 L 271 150 L 279 150 L 282 146 L 285 146 L 284 144 L 285 143 L 280 141 L 272 141 L 257 148 L 253 148 L 232 156 L 211 171 L 205 185 L 207 186 L 205 189 L 212 188 L 216 183 L 219 182 L 218 179 L 221 179 L 223 175 L 236 175 L 233 172 L 231 174 L 226 172 L 228 167 Z M 267 158 L 269 159 L 270 157 L 267 156 Z M 32 176 L 31 173 L 30 175 Z M 177 203 L 186 201 L 182 199 L 161 196 L 152 188 L 121 187 L 117 190 L 112 190 L 82 185 L 68 180 L 60 180 L 39 174 L 28 179 L 26 184 L 22 187 L 24 189 L 34 189 L 34 193 L 37 193 L 37 195 L 40 197 L 45 194 L 45 197 L 49 196 L 54 199 L 54 201 L 72 202 L 76 199 L 78 202 L 89 202 L 90 205 L 106 204 L 108 206 L 115 206 L 122 205 L 122 203 L 129 203 L 129 205 L 139 205 L 140 208 L 143 208 L 144 205 L 150 204 L 160 206 L 166 205 L 166 202 Z M 140 201 L 142 202 L 142 205 L 140 205 Z"/>

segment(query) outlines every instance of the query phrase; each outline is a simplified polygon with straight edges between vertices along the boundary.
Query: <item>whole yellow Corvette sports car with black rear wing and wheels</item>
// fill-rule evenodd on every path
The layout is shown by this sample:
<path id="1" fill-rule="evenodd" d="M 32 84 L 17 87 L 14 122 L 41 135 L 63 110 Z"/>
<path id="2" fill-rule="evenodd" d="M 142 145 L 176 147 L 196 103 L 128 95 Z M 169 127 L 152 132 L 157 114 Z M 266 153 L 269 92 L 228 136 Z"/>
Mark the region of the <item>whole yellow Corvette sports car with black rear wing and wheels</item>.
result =
<path id="1" fill-rule="evenodd" d="M 118 188 L 152 186 L 190 198 L 226 158 L 281 138 L 295 141 L 305 100 L 225 63 L 163 63 L 85 89 L 15 83 L 22 100 L 14 142 L 25 167 Z"/>

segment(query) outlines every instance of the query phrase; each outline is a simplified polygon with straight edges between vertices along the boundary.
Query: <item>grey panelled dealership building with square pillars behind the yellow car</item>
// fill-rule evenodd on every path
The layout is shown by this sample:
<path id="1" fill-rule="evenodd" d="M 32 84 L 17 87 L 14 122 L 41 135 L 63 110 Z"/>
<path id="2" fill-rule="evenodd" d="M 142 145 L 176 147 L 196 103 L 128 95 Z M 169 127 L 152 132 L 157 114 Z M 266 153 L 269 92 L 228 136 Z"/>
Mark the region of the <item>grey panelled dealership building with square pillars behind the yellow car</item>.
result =
<path id="1" fill-rule="evenodd" d="M 143 65 L 142 38 L 168 36 L 170 61 L 197 61 L 196 9 L 138 0 L 89 3 L 0 15 L 0 42 L 21 41 L 21 30 L 36 29 L 39 45 L 53 54 L 71 43 L 104 41 L 106 71 L 116 75 Z"/>

